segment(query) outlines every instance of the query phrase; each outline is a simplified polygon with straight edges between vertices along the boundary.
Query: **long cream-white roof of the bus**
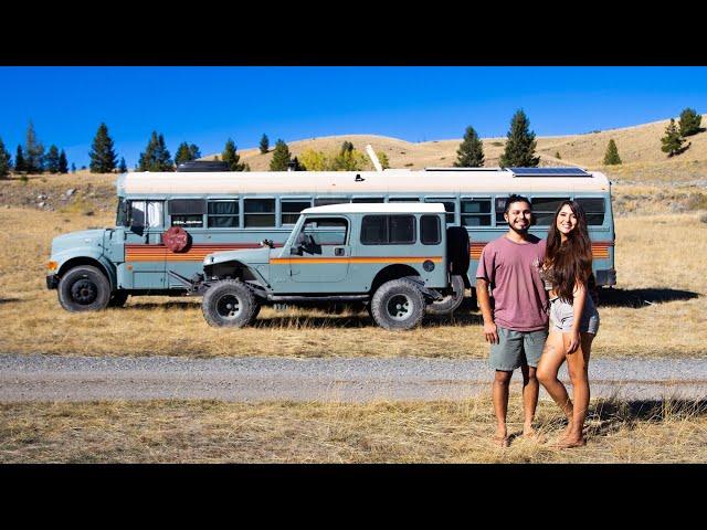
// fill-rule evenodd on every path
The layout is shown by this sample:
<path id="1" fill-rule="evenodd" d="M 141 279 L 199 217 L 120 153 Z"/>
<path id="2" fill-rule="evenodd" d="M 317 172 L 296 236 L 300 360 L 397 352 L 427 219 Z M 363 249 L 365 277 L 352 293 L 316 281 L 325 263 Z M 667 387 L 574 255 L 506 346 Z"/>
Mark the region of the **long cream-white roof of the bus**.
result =
<path id="1" fill-rule="evenodd" d="M 603 173 L 591 177 L 519 177 L 497 169 L 455 171 L 263 171 L 263 172 L 131 172 L 118 177 L 120 195 L 148 194 L 484 194 L 510 192 L 608 192 Z"/>

